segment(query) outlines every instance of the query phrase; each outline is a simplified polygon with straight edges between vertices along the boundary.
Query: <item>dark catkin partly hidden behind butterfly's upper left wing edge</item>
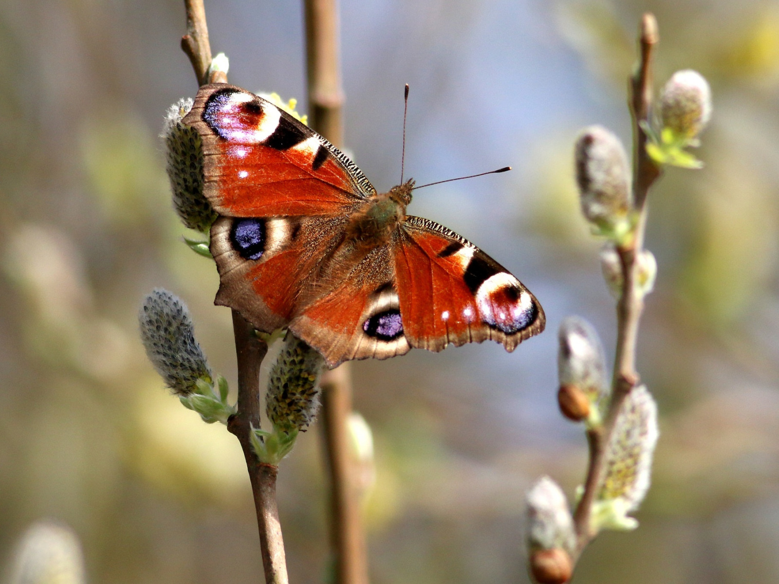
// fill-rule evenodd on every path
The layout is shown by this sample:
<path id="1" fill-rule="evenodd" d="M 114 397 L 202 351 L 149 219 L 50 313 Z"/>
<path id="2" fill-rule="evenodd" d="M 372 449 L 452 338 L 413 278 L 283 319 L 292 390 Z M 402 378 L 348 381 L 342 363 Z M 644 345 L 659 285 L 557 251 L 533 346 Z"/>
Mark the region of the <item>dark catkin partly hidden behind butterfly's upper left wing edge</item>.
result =
<path id="1" fill-rule="evenodd" d="M 192 98 L 178 100 L 168 108 L 160 137 L 165 142 L 167 176 L 171 180 L 173 206 L 189 229 L 206 233 L 217 213 L 203 195 L 202 141 L 195 128 L 182 124 L 192 109 Z"/>

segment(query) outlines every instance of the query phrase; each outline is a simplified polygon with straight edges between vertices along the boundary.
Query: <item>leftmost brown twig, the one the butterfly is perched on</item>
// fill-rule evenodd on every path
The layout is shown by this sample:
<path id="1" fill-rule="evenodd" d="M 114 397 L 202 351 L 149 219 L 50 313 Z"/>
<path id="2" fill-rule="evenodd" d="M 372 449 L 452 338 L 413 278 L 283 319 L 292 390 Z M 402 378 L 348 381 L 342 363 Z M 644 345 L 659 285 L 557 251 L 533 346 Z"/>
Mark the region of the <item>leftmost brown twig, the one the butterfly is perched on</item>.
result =
<path id="1" fill-rule="evenodd" d="M 182 49 L 192 62 L 200 85 L 226 83 L 227 75 L 209 75 L 211 47 L 206 26 L 203 0 L 185 0 L 187 34 L 182 37 Z M 238 438 L 252 482 L 252 494 L 257 512 L 259 545 L 263 556 L 266 584 L 287 584 L 287 562 L 281 537 L 279 512 L 276 505 L 276 466 L 260 463 L 249 438 L 252 427 L 259 428 L 259 367 L 268 345 L 258 339 L 254 327 L 232 311 L 235 354 L 238 360 L 238 411 L 227 421 L 227 429 Z"/>

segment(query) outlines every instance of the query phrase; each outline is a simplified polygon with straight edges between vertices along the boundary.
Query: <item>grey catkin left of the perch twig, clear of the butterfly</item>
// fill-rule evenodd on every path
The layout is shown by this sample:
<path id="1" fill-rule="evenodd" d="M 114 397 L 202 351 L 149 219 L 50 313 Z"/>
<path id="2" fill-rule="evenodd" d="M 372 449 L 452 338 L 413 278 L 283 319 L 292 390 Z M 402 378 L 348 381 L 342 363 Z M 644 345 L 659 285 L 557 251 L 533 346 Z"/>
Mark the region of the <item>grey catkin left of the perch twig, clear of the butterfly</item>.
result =
<path id="1" fill-rule="evenodd" d="M 213 383 L 189 310 L 179 297 L 156 288 L 143 301 L 138 321 L 146 355 L 174 392 L 185 396 L 195 391 L 198 379 Z"/>

